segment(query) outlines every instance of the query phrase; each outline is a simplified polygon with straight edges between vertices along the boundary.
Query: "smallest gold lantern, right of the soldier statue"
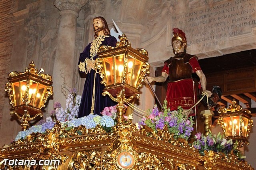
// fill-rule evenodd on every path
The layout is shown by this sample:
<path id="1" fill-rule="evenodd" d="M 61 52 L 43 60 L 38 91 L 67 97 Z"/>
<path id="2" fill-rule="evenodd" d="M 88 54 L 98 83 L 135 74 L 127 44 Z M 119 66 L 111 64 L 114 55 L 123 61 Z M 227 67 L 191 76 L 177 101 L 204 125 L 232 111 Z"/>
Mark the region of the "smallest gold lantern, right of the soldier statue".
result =
<path id="1" fill-rule="evenodd" d="M 233 100 L 229 108 L 220 108 L 218 111 L 220 124 L 225 136 L 233 140 L 237 140 L 242 147 L 244 144 L 249 144 L 247 138 L 253 126 L 253 120 L 250 110 L 242 109 Z"/>

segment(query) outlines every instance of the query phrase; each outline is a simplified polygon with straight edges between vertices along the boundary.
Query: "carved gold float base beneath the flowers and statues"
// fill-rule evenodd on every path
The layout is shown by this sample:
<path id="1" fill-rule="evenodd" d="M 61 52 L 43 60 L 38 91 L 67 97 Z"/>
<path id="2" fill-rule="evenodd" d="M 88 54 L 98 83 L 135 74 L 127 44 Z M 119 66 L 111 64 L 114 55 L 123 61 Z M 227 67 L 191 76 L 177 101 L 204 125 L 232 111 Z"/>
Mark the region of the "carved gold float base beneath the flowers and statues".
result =
<path id="1" fill-rule="evenodd" d="M 157 134 L 145 126 L 124 122 L 106 132 L 101 126 L 84 126 L 66 131 L 56 123 L 45 134 L 0 150 L 0 160 L 60 160 L 60 165 L 7 166 L 1 170 L 253 170 L 234 154 L 199 152 L 184 139 L 174 140 L 168 129 Z"/>

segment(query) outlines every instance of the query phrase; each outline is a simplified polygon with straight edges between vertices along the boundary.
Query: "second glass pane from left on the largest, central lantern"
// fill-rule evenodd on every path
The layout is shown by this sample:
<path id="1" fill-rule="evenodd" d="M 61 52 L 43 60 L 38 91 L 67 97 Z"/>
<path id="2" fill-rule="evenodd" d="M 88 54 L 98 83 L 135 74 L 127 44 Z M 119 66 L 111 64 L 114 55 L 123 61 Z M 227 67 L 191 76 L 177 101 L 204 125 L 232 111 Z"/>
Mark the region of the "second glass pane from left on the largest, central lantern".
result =
<path id="1" fill-rule="evenodd" d="M 115 56 L 114 60 L 114 84 L 122 83 L 123 82 L 123 76 L 124 76 L 124 54 L 120 54 Z"/>

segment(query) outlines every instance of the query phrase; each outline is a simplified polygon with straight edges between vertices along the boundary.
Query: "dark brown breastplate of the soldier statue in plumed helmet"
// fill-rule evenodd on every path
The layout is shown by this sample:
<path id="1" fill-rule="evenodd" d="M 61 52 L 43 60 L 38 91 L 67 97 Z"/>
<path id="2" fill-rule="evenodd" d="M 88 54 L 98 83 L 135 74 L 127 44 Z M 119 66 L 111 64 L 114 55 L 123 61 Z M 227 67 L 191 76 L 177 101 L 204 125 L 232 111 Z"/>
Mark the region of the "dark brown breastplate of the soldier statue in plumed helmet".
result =
<path id="1" fill-rule="evenodd" d="M 192 78 L 192 68 L 188 62 L 184 63 L 183 58 L 173 58 L 169 66 L 169 76 L 170 82 Z"/>

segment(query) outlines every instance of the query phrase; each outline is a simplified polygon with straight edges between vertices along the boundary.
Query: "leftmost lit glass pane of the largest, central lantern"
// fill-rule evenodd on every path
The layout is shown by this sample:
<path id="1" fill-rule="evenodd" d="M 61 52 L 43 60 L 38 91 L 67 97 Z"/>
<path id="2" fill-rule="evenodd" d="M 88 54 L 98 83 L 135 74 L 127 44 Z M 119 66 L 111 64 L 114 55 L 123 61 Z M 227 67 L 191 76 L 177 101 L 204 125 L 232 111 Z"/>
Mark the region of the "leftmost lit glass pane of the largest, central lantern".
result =
<path id="1" fill-rule="evenodd" d="M 114 84 L 114 67 L 113 67 L 113 57 L 106 57 L 103 59 L 105 79 L 107 86 Z"/>

